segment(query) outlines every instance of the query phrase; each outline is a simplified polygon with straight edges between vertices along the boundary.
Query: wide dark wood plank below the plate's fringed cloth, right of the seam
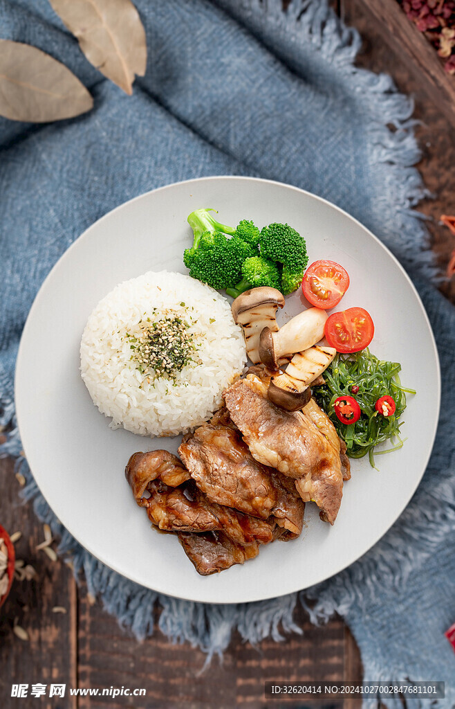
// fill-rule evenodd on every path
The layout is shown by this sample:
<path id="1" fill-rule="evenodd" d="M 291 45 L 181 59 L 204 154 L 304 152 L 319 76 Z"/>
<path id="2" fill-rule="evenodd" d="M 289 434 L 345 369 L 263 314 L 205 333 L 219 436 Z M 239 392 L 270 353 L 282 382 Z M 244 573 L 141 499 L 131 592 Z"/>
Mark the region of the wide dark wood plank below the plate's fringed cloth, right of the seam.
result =
<path id="1" fill-rule="evenodd" d="M 146 688 L 146 700 L 118 698 L 118 706 L 137 709 L 191 707 L 205 709 L 259 709 L 265 703 L 265 681 L 341 680 L 346 675 L 345 625 L 335 618 L 315 627 L 299 608 L 296 621 L 304 634 L 292 633 L 281 643 L 267 639 L 252 647 L 234 634 L 231 645 L 202 672 L 205 654 L 188 644 L 173 645 L 159 631 L 138 644 L 129 633 L 119 632 L 114 618 L 86 596 L 79 603 L 79 681 L 81 687 Z M 351 649 L 351 652 L 355 652 Z M 358 657 L 358 652 L 357 652 Z M 350 666 L 350 679 L 359 680 L 362 668 Z M 311 706 L 311 702 L 306 702 Z M 321 701 L 318 702 L 321 708 Z M 103 706 L 102 698 L 80 698 L 79 709 Z M 110 703 L 110 706 L 116 706 Z M 273 702 L 275 706 L 275 701 Z M 286 702 L 289 709 L 301 700 Z M 341 709 L 342 702 L 331 702 Z"/>

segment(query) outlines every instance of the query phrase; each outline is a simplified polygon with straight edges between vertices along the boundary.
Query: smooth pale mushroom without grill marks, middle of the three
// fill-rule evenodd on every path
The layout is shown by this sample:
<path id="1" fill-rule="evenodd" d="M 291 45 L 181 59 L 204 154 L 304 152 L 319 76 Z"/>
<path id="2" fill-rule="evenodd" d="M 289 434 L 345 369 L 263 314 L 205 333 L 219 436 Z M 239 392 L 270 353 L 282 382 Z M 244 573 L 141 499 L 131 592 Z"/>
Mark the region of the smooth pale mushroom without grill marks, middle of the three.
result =
<path id="1" fill-rule="evenodd" d="M 308 350 L 322 339 L 327 318 L 321 308 L 308 308 L 280 330 L 264 328 L 259 337 L 260 362 L 269 369 L 278 369 L 280 359 L 287 354 Z"/>

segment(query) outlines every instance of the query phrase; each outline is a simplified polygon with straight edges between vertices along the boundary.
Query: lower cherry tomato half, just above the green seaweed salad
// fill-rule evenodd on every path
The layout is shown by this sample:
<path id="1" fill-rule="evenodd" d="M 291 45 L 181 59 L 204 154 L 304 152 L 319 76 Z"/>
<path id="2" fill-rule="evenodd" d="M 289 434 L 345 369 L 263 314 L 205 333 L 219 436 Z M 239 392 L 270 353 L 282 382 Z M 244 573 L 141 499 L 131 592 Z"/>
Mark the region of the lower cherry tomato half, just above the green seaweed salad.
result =
<path id="1" fill-rule="evenodd" d="M 324 334 L 330 347 L 335 347 L 337 352 L 359 352 L 373 339 L 372 316 L 364 308 L 347 308 L 332 313 L 326 320 Z"/>

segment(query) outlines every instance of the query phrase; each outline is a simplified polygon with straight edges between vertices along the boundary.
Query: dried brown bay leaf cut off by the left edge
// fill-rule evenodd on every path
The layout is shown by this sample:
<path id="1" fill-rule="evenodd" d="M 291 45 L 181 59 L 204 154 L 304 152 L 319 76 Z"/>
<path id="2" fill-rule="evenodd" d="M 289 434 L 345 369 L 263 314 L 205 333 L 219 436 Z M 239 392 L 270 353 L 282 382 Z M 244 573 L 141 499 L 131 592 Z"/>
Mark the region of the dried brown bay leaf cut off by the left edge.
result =
<path id="1" fill-rule="evenodd" d="M 0 40 L 1 116 L 46 123 L 79 116 L 92 106 L 86 87 L 63 64 L 36 47 Z"/>

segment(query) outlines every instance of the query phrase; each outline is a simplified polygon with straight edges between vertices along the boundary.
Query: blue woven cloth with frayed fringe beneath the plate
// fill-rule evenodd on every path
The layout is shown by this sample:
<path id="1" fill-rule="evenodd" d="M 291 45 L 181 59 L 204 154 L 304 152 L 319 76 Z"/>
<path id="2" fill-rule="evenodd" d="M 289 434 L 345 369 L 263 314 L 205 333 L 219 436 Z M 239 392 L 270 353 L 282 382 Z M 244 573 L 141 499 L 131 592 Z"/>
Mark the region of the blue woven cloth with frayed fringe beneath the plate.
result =
<path id="1" fill-rule="evenodd" d="M 1 38 L 66 64 L 95 99 L 93 111 L 46 125 L 0 118 L 0 425 L 25 474 L 25 494 L 60 535 L 60 550 L 88 588 L 138 637 L 161 630 L 211 657 L 238 628 L 251 642 L 299 630 L 295 604 L 321 622 L 345 618 L 365 678 L 444 680 L 455 705 L 454 308 L 432 284 L 425 194 L 412 106 L 391 79 L 353 65 L 360 39 L 323 0 L 137 0 L 149 59 L 132 97 L 85 60 L 47 0 L 0 0 Z M 392 127 L 392 130 L 391 130 Z M 59 525 L 20 456 L 13 407 L 18 340 L 40 284 L 83 230 L 118 204 L 171 182 L 240 174 L 288 182 L 329 199 L 400 259 L 432 322 L 442 365 L 442 415 L 430 464 L 396 525 L 356 564 L 305 591 L 247 605 L 204 606 L 117 576 Z M 310 607 L 311 606 L 311 607 Z M 387 702 L 386 702 L 387 703 Z M 365 706 L 369 705 L 365 702 Z M 376 705 L 376 700 L 374 700 Z M 389 700 L 388 706 L 401 706 Z M 425 706 L 425 700 L 413 700 Z"/>

